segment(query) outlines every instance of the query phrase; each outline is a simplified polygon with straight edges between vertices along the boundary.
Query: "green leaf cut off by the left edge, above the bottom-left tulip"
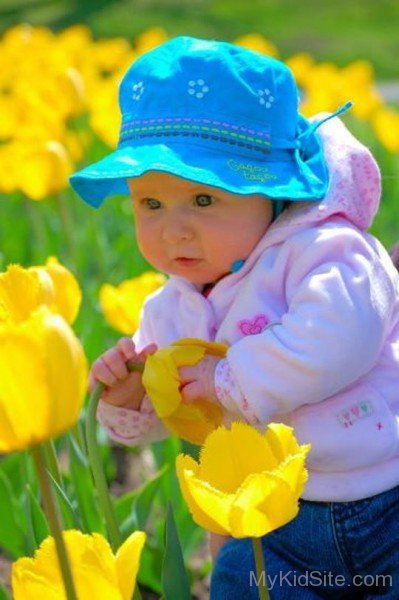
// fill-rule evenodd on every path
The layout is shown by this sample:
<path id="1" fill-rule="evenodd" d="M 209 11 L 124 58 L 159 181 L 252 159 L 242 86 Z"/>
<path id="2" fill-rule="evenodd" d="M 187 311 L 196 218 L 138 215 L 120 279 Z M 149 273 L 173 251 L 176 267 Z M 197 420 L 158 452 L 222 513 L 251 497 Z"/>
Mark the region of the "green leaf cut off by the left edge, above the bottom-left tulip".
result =
<path id="1" fill-rule="evenodd" d="M 0 546 L 11 558 L 25 552 L 25 534 L 18 522 L 20 507 L 13 495 L 8 477 L 0 471 Z"/>

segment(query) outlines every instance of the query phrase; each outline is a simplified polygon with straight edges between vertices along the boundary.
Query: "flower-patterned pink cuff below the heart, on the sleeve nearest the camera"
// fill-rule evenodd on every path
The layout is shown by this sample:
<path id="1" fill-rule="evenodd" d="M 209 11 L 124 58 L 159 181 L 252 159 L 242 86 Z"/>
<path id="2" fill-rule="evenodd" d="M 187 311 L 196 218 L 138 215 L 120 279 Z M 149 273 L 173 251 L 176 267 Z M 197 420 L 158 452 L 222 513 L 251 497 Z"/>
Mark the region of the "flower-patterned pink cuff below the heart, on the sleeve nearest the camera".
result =
<path id="1" fill-rule="evenodd" d="M 259 423 L 234 379 L 227 358 L 221 359 L 216 365 L 215 391 L 220 404 L 228 411 L 241 413 L 248 423 Z"/>

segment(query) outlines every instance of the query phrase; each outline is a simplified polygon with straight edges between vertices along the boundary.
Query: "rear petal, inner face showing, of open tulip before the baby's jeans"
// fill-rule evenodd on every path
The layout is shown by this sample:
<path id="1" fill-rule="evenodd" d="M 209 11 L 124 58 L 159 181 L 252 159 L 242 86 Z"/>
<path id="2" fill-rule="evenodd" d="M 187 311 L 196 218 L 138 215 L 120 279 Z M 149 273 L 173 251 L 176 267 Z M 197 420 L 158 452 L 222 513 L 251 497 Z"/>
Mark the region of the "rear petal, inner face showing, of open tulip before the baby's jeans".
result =
<path id="1" fill-rule="evenodd" d="M 262 433 L 245 423 L 233 423 L 230 431 L 219 427 L 207 438 L 200 476 L 213 487 L 233 493 L 251 473 L 274 469 L 277 464 Z"/>

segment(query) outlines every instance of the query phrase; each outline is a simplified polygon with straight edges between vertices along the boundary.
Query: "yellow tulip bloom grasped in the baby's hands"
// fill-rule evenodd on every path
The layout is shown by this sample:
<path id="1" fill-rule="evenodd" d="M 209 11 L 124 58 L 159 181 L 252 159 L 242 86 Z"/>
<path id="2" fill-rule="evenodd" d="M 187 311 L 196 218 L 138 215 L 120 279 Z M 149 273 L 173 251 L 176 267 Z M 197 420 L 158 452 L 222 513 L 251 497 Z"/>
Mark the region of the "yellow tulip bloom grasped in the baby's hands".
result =
<path id="1" fill-rule="evenodd" d="M 205 354 L 225 356 L 227 346 L 197 339 L 182 339 L 146 359 L 143 384 L 158 416 L 180 438 L 202 444 L 218 427 L 224 411 L 206 398 L 186 404 L 180 394 L 178 367 L 195 365 Z"/>

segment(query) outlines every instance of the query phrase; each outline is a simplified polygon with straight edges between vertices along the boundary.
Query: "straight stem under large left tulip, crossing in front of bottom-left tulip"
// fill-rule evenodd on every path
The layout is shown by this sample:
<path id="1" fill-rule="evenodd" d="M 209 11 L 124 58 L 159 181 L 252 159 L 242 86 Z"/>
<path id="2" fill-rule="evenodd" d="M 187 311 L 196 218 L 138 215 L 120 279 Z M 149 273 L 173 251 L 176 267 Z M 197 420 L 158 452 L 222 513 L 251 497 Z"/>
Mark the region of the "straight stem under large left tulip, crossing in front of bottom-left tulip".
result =
<path id="1" fill-rule="evenodd" d="M 71 566 L 68 559 L 67 549 L 65 547 L 64 538 L 62 537 L 62 529 L 60 525 L 60 517 L 57 510 L 57 505 L 54 500 L 53 489 L 51 487 L 50 478 L 46 469 L 45 453 L 42 446 L 34 446 L 31 448 L 33 461 L 39 478 L 40 489 L 42 493 L 43 506 L 48 519 L 51 533 L 53 534 L 55 547 L 57 549 L 58 562 L 61 570 L 62 579 L 67 600 L 78 600 L 75 585 L 73 582 Z"/>

